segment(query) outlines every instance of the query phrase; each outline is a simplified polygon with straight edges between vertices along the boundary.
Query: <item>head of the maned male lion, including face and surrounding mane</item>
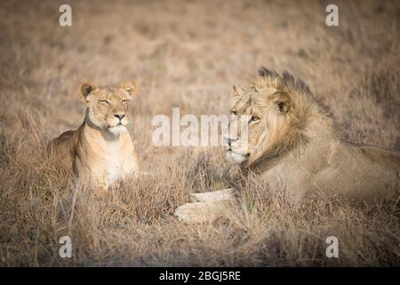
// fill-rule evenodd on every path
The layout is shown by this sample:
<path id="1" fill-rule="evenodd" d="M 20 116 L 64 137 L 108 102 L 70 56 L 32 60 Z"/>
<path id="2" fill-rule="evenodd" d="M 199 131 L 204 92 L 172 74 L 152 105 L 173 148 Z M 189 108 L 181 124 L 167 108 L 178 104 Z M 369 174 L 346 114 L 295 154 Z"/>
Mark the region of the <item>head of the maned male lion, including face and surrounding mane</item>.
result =
<path id="1" fill-rule="evenodd" d="M 231 120 L 224 134 L 227 159 L 246 167 L 272 160 L 292 150 L 314 98 L 300 80 L 262 68 L 246 88 L 234 86 Z"/>

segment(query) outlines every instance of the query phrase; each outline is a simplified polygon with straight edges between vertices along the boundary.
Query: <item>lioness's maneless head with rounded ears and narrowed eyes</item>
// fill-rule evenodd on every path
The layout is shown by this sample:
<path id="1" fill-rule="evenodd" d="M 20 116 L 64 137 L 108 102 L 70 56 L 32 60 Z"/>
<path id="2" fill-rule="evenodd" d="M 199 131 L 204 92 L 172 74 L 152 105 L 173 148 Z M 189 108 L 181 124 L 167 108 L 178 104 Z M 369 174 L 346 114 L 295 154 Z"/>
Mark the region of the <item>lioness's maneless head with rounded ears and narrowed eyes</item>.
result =
<path id="1" fill-rule="evenodd" d="M 128 102 L 137 94 L 134 82 L 124 82 L 119 86 L 100 86 L 85 81 L 78 88 L 79 95 L 87 103 L 87 118 L 100 129 L 111 134 L 126 132 Z"/>

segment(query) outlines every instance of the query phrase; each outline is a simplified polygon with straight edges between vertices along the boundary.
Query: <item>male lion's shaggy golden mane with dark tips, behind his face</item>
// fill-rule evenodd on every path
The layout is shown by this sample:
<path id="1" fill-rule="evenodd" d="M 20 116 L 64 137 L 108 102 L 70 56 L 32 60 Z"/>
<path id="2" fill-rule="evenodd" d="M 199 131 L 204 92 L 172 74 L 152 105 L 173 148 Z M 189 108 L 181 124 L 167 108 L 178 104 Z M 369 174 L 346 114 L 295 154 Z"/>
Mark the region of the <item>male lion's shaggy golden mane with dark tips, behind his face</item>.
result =
<path id="1" fill-rule="evenodd" d="M 249 78 L 250 88 L 270 89 L 276 94 L 285 94 L 291 104 L 286 126 L 273 137 L 262 138 L 253 151 L 253 159 L 245 162 L 245 167 L 273 167 L 279 159 L 304 148 L 312 132 L 308 130 L 310 118 L 319 120 L 326 126 L 332 139 L 339 139 L 340 128 L 335 123 L 332 112 L 316 100 L 310 88 L 301 79 L 296 79 L 287 71 L 282 75 L 274 70 L 261 68 L 258 75 Z M 277 116 L 277 115 L 276 115 Z"/>

